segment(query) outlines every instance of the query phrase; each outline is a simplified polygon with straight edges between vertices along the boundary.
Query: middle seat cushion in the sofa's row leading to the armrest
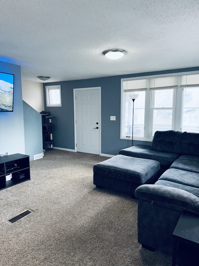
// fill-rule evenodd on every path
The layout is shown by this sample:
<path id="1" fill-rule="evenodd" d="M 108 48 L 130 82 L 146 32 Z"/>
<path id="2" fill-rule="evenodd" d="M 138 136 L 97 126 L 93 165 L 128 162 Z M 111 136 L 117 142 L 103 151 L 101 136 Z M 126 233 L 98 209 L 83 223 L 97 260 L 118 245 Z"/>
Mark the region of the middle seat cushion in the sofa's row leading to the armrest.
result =
<path id="1" fill-rule="evenodd" d="M 188 172 L 184 170 L 170 168 L 161 175 L 158 181 L 160 180 L 169 181 L 171 185 L 173 184 L 173 187 L 180 188 L 180 189 L 182 189 L 181 185 L 188 186 L 191 188 L 195 187 L 199 189 L 199 173 L 193 173 L 193 172 Z M 155 183 L 156 185 L 160 183 L 160 182 L 159 183 L 157 182 Z M 167 182 L 165 184 L 167 184 Z M 163 185 L 162 182 L 161 182 L 161 185 Z M 191 192 L 190 188 L 187 191 Z"/>

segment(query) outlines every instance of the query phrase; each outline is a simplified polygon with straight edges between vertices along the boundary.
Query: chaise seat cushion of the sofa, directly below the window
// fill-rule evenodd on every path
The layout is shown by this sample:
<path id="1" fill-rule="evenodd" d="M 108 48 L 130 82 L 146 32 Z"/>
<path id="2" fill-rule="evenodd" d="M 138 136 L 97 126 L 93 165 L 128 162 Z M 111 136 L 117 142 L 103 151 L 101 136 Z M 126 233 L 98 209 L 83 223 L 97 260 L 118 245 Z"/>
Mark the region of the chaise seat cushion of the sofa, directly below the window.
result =
<path id="1" fill-rule="evenodd" d="M 170 166 L 175 159 L 179 157 L 176 153 L 157 152 L 151 150 L 147 145 L 135 145 L 119 151 L 119 154 L 132 156 L 137 158 L 144 158 L 160 162 L 161 165 Z"/>

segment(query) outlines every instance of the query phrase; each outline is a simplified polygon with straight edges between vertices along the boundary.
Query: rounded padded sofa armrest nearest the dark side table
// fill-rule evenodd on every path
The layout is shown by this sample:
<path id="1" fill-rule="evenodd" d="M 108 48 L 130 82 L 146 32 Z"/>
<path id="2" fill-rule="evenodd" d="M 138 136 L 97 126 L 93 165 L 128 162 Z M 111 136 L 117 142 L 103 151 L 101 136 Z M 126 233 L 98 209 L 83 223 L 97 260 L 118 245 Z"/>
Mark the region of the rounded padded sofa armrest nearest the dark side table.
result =
<path id="1" fill-rule="evenodd" d="M 199 213 L 199 198 L 179 188 L 141 185 L 136 189 L 135 197 L 170 209 Z"/>

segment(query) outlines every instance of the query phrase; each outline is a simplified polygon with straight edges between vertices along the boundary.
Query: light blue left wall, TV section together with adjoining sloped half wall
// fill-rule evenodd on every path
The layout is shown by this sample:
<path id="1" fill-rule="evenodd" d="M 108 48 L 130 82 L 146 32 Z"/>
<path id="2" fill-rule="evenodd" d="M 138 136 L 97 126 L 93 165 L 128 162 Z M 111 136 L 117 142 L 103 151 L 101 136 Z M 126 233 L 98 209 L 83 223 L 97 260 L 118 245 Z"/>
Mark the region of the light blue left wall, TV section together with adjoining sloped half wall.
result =
<path id="1" fill-rule="evenodd" d="M 0 154 L 43 152 L 41 115 L 22 101 L 21 67 L 0 61 L 0 72 L 14 74 L 13 112 L 0 112 Z M 36 99 L 35 99 L 36 100 Z"/>

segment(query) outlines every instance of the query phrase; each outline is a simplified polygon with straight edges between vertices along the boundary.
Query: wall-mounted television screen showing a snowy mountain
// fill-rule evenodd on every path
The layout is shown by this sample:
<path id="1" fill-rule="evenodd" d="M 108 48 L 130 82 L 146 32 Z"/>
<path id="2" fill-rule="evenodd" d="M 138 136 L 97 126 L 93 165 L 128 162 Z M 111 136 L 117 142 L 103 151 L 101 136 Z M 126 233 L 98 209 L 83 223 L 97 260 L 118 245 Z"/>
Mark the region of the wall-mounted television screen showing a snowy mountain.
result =
<path id="1" fill-rule="evenodd" d="M 0 72 L 0 112 L 13 112 L 14 75 Z"/>

